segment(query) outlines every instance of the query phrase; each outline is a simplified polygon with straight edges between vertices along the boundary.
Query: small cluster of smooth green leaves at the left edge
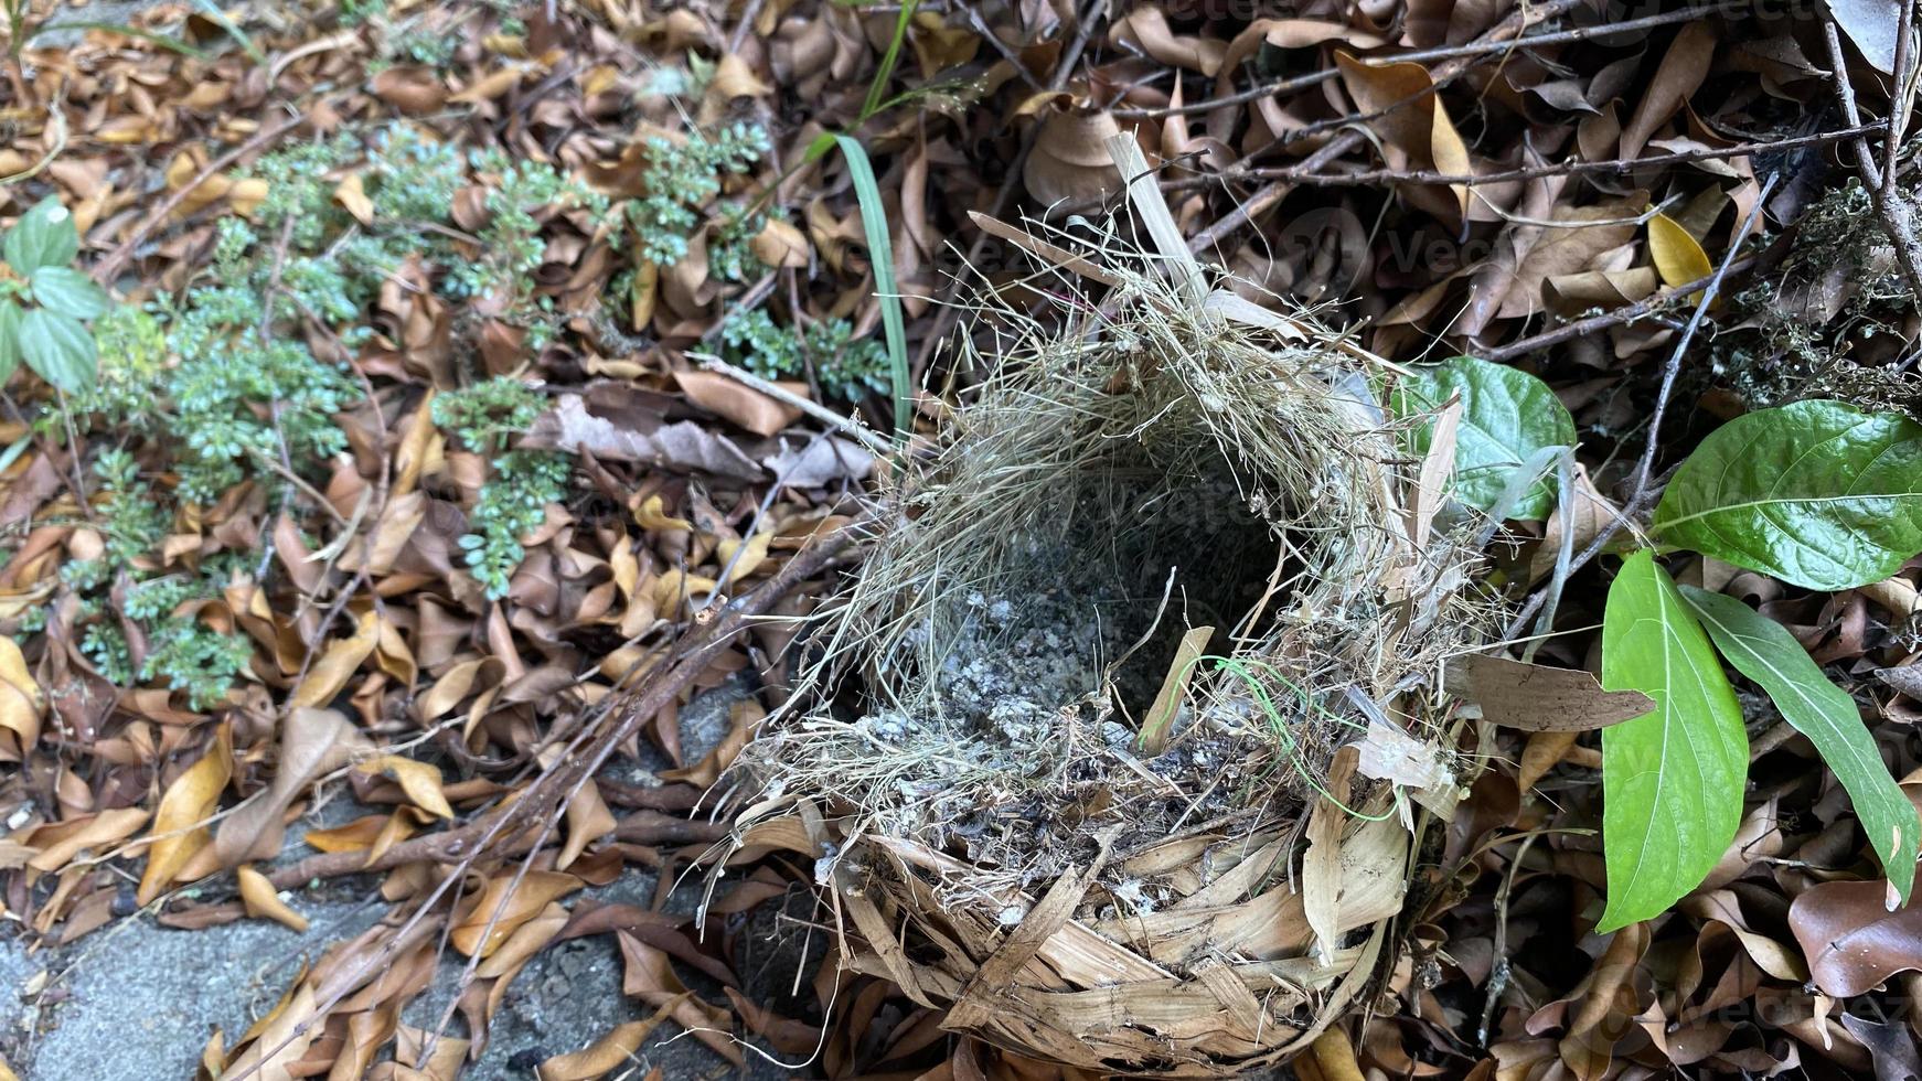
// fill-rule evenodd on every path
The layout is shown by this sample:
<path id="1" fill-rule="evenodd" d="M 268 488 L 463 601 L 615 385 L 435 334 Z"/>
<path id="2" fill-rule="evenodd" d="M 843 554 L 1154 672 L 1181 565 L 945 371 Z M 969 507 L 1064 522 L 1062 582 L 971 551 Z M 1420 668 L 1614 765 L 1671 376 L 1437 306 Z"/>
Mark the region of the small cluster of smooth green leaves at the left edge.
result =
<path id="1" fill-rule="evenodd" d="M 94 382 L 100 353 L 86 321 L 108 309 L 108 294 L 71 263 L 81 253 L 73 215 L 48 196 L 0 240 L 0 380 L 21 361 L 67 394 Z"/>

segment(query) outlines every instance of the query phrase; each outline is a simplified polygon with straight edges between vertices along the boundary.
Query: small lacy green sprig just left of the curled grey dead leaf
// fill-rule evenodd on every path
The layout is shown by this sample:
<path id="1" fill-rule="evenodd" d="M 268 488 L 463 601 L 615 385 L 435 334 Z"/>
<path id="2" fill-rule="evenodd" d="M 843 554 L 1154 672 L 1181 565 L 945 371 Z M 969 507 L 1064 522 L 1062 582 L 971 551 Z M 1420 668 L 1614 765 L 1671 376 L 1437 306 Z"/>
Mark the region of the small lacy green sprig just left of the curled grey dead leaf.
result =
<path id="1" fill-rule="evenodd" d="M 492 455 L 490 474 L 480 486 L 461 551 L 467 570 L 488 597 L 507 595 L 513 572 L 527 559 L 521 538 L 540 528 L 548 503 L 567 495 L 573 463 L 565 453 L 546 449 L 504 449 L 540 415 L 542 397 L 507 376 L 434 397 L 434 424 L 459 436 L 469 449 Z"/>

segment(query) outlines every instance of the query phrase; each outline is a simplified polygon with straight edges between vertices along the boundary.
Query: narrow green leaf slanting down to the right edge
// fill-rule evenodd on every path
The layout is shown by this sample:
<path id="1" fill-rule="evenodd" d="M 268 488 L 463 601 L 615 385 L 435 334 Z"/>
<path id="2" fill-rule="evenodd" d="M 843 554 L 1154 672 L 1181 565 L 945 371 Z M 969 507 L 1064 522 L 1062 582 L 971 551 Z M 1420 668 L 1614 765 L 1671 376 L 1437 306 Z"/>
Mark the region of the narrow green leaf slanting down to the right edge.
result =
<path id="1" fill-rule="evenodd" d="M 1836 770 L 1836 778 L 1855 803 L 1855 816 L 1862 820 L 1862 831 L 1889 872 L 1895 893 L 1909 904 L 1922 820 L 1882 762 L 1855 699 L 1830 684 L 1809 659 L 1809 651 L 1776 620 L 1736 597 L 1693 586 L 1684 586 L 1682 597 L 1709 628 L 1709 637 L 1722 657 L 1768 691 L 1782 716 L 1795 726 L 1795 732 L 1807 735 L 1828 768 Z"/>

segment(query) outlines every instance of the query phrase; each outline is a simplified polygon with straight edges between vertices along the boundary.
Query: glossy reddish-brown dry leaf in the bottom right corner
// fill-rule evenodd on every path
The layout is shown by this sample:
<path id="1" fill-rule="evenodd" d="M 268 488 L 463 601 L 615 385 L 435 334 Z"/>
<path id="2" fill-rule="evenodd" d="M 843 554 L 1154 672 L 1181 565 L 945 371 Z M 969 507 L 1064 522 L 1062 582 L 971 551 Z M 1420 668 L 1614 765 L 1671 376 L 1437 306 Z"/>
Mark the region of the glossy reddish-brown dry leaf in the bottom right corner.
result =
<path id="1" fill-rule="evenodd" d="M 1824 881 L 1789 904 L 1789 929 L 1814 985 L 1847 998 L 1922 970 L 1922 906 L 1889 912 L 1880 881 Z"/>

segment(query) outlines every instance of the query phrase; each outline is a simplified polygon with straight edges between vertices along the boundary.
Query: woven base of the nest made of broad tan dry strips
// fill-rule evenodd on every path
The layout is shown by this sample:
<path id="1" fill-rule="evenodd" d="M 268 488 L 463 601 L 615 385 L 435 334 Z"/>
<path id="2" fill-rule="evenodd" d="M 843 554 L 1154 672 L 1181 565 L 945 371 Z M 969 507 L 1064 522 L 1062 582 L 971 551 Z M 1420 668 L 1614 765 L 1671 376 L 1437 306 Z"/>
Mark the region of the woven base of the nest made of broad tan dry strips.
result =
<path id="1" fill-rule="evenodd" d="M 1130 1077 L 1234 1077 L 1303 1052 L 1363 1000 L 1390 949 L 1411 853 L 1395 818 L 1334 820 L 1343 945 L 1322 958 L 1301 881 L 1290 881 L 1299 829 L 1288 824 L 1109 851 L 1040 897 L 953 904 L 942 885 L 974 868 L 909 841 L 848 837 L 844 822 L 801 803 L 752 826 L 734 858 L 790 851 L 826 866 L 838 853 L 823 901 L 846 964 L 948 1010 L 948 1031 Z M 1167 885 L 1180 901 L 1122 914 L 1090 889 L 1101 872 Z"/>

